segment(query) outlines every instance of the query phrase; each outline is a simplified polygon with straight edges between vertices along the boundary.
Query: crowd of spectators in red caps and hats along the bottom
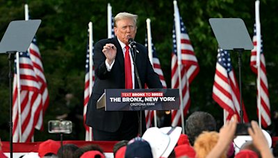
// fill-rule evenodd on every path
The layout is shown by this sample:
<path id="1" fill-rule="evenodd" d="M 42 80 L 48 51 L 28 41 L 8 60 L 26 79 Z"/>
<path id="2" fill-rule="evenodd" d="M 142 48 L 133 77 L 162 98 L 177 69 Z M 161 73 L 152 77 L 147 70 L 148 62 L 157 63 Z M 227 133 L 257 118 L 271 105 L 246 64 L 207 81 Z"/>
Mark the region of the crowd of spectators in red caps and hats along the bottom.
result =
<path id="1" fill-rule="evenodd" d="M 268 140 L 256 121 L 251 121 L 248 133 L 252 141 L 247 141 L 236 152 L 233 140 L 236 138 L 237 116 L 227 121 L 219 132 L 215 131 L 215 119 L 206 112 L 194 112 L 186 120 L 186 134 L 180 127 L 149 128 L 141 137 L 119 141 L 113 148 L 115 158 L 271 158 L 277 155 L 277 146 L 270 150 Z M 0 149 L 2 143 L 0 140 Z M 275 155 L 275 156 L 274 156 Z M 0 158 L 6 157 L 0 152 Z M 60 146 L 57 141 L 40 143 L 38 155 L 34 152 L 22 158 L 105 158 L 101 146 L 78 147 L 74 144 Z"/>

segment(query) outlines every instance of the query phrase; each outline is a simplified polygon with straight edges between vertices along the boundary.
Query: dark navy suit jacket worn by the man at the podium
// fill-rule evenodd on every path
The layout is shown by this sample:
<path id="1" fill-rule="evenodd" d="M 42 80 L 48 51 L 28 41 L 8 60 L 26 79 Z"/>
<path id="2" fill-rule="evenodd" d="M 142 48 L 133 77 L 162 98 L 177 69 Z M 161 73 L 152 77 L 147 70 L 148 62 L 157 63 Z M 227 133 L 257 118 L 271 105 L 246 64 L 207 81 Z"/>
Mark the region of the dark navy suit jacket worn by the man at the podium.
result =
<path id="1" fill-rule="evenodd" d="M 111 71 L 107 71 L 106 57 L 102 52 L 105 44 L 114 44 L 117 48 L 115 62 Z M 142 87 L 145 83 L 149 88 L 163 88 L 159 76 L 154 72 L 152 64 L 149 62 L 147 48 L 142 44 L 137 44 L 136 67 L 140 76 Z M 113 39 L 100 40 L 95 44 L 93 56 L 95 66 L 95 85 L 88 102 L 86 125 L 107 132 L 115 132 L 120 128 L 124 112 L 106 112 L 104 109 L 97 109 L 97 100 L 104 93 L 104 89 L 124 89 L 124 55 L 117 37 Z M 135 88 L 139 89 L 138 81 L 135 80 Z M 138 120 L 137 120 L 138 121 Z M 145 131 L 145 112 L 142 112 L 142 131 Z"/>

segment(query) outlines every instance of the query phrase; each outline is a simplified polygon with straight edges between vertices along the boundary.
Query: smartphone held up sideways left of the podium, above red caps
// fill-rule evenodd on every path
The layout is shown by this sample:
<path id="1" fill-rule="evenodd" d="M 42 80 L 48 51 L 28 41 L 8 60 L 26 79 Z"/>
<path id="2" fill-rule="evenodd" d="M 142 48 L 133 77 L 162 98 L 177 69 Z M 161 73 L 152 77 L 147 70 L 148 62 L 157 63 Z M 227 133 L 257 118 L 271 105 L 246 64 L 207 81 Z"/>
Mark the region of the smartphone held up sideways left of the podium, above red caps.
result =
<path id="1" fill-rule="evenodd" d="M 49 133 L 72 133 L 72 121 L 48 121 L 48 132 Z"/>

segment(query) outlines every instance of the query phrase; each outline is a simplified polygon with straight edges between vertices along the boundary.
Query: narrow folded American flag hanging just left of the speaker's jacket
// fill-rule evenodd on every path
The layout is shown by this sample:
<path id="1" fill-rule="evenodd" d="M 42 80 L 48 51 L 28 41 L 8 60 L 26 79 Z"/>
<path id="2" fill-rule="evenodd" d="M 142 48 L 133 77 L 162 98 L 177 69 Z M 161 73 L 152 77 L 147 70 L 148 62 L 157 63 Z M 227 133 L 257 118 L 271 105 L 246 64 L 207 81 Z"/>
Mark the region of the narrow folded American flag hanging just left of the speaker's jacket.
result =
<path id="1" fill-rule="evenodd" d="M 94 46 L 92 46 L 92 55 L 94 54 Z M 90 98 L 90 86 L 93 87 L 95 82 L 95 67 L 92 63 L 92 83 L 90 83 L 90 49 L 89 49 L 89 30 L 88 30 L 88 43 L 87 43 L 87 53 L 86 53 L 86 64 L 85 64 L 85 88 L 84 88 L 84 109 L 83 109 L 83 119 L 85 127 L 85 141 L 90 141 L 90 127 L 85 124 L 87 105 Z"/>

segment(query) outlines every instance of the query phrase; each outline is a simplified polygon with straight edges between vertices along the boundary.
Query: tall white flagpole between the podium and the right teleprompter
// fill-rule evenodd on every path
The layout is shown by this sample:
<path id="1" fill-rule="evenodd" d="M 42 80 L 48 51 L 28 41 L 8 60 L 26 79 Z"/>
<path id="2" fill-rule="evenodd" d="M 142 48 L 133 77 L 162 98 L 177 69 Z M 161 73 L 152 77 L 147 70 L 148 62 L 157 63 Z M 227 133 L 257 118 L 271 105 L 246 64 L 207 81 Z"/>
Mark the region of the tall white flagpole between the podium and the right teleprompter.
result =
<path id="1" fill-rule="evenodd" d="M 182 133 L 184 134 L 184 118 L 183 118 L 183 95 L 182 95 L 182 87 L 181 87 L 181 25 L 180 19 L 178 18 L 178 10 L 177 10 L 177 1 L 173 1 L 174 3 L 174 21 L 176 28 L 176 41 L 177 41 L 177 60 L 178 60 L 178 71 L 179 71 L 179 98 L 181 100 L 181 105 L 179 107 L 179 111 L 181 112 L 181 127 Z"/>

